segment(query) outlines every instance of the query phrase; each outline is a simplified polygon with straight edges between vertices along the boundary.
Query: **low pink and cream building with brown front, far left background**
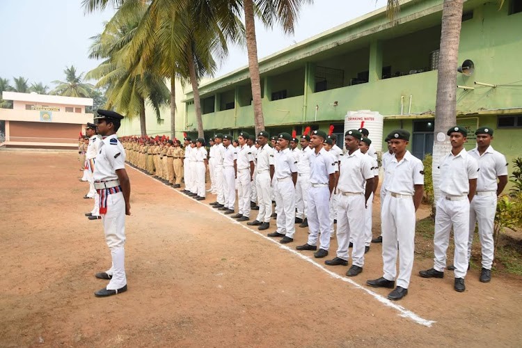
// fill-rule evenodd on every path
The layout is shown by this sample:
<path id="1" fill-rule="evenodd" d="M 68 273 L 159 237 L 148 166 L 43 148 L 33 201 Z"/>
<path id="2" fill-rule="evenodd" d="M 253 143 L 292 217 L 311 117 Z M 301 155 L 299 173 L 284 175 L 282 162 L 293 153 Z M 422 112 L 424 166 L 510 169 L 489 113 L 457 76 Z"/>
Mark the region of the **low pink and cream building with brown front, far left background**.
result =
<path id="1" fill-rule="evenodd" d="M 77 148 L 79 134 L 85 134 L 93 114 L 91 98 L 61 97 L 37 93 L 3 92 L 3 100 L 13 100 L 13 109 L 0 109 L 6 122 L 6 147 Z"/>

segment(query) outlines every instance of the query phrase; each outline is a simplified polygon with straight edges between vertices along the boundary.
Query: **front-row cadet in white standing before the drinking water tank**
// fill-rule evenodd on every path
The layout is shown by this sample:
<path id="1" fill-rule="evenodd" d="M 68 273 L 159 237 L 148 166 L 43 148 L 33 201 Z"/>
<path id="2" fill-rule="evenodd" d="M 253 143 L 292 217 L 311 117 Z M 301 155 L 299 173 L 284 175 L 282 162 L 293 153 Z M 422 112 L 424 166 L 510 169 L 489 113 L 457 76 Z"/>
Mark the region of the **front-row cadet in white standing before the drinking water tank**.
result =
<path id="1" fill-rule="evenodd" d="M 337 256 L 326 261 L 329 265 L 347 264 L 350 238 L 354 240 L 351 250 L 353 264 L 347 276 L 357 276 L 363 271 L 365 251 L 365 207 L 373 191 L 374 174 L 370 158 L 359 150 L 363 134 L 357 129 L 345 133 L 348 152 L 339 168 L 337 190 L 339 206 L 337 216 Z"/>

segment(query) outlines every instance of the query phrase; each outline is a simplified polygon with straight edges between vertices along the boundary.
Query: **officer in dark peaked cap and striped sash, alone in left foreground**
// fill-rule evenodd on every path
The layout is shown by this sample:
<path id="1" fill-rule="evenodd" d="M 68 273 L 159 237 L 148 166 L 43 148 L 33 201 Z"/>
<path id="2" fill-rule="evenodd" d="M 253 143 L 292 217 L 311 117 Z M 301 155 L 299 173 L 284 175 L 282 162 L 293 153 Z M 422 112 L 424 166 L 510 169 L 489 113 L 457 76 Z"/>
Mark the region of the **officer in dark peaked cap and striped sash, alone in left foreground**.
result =
<path id="1" fill-rule="evenodd" d="M 125 215 L 130 215 L 130 181 L 125 171 L 125 149 L 118 141 L 116 131 L 123 118 L 108 110 L 97 111 L 95 117 L 98 132 L 103 140 L 96 157 L 95 187 L 100 194 L 105 240 L 111 249 L 112 266 L 97 273 L 96 278 L 110 279 L 109 284 L 95 292 L 97 297 L 111 296 L 127 291 L 125 276 Z"/>

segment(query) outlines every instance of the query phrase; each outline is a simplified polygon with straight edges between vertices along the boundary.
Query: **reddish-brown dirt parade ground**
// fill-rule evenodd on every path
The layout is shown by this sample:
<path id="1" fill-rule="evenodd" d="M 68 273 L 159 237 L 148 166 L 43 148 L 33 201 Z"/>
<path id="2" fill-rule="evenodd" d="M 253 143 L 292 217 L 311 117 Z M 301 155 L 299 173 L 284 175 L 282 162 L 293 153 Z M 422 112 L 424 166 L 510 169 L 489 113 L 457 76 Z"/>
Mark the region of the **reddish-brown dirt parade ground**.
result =
<path id="1" fill-rule="evenodd" d="M 390 290 L 364 285 L 381 276 L 379 244 L 351 278 L 366 292 L 342 281 L 348 267 L 315 267 L 324 259 L 302 252 L 306 262 L 209 208 L 212 196 L 203 205 L 134 168 L 127 172 L 129 290 L 100 299 L 93 292 L 106 281 L 94 274 L 109 267 L 110 254 L 101 222 L 84 216 L 93 200 L 82 198 L 88 185 L 78 181 L 77 156 L 0 150 L 1 347 L 522 345 L 519 278 L 493 274 L 483 284 L 472 270 L 459 293 L 450 271 L 444 279 L 420 278 L 432 260 L 417 255 L 409 294 L 393 308 Z M 271 226 L 264 232 L 275 221 Z M 374 226 L 377 235 L 378 221 Z M 306 237 L 297 228 L 287 245 Z M 329 258 L 335 248 L 334 239 Z"/>

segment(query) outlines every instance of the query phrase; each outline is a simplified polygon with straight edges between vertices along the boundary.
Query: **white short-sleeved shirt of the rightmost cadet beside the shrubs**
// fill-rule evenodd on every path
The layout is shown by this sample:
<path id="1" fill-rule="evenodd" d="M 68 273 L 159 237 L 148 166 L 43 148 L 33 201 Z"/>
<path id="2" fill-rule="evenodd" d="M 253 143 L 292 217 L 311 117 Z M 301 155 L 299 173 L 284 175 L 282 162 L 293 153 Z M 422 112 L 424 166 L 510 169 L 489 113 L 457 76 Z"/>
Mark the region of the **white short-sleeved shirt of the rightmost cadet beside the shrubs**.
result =
<path id="1" fill-rule="evenodd" d="M 497 177 L 507 175 L 507 161 L 506 157 L 500 152 L 489 148 L 480 155 L 478 148 L 474 148 L 468 152 L 468 155 L 473 157 L 480 168 L 479 177 L 477 179 L 477 192 L 493 191 L 498 189 Z"/>

